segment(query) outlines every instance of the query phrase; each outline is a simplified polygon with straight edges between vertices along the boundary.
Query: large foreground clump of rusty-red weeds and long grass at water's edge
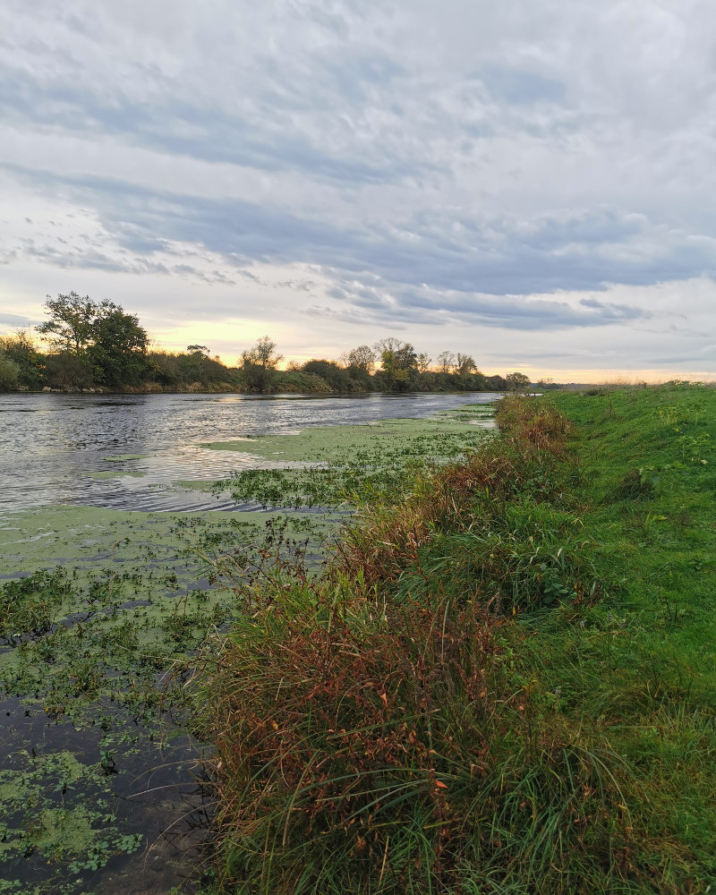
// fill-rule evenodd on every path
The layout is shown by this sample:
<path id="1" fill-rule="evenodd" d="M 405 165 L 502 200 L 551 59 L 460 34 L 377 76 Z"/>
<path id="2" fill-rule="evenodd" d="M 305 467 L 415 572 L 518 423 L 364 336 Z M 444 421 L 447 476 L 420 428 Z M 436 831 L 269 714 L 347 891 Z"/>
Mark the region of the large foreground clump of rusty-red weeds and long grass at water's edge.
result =
<path id="1" fill-rule="evenodd" d="M 226 891 L 597 891 L 605 757 L 515 686 L 499 618 L 286 584 L 254 593 L 203 691 Z"/>

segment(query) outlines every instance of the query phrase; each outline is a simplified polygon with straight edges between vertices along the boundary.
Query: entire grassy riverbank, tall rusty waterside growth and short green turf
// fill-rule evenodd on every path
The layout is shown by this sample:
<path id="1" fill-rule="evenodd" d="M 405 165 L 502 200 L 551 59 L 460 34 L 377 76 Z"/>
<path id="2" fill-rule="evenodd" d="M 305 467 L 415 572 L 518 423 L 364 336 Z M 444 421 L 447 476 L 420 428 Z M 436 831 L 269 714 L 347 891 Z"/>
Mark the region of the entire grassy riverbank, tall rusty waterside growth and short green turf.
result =
<path id="1" fill-rule="evenodd" d="M 508 399 L 499 425 L 373 492 L 319 578 L 266 556 L 233 582 L 201 678 L 218 891 L 716 879 L 716 391 Z"/>

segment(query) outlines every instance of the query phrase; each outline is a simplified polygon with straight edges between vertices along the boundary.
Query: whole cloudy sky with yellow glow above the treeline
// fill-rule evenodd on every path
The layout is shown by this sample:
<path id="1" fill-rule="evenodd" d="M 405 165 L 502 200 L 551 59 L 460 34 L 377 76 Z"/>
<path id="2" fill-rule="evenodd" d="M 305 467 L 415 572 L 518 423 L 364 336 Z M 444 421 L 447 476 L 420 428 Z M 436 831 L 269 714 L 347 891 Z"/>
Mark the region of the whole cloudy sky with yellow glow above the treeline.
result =
<path id="1" fill-rule="evenodd" d="M 3 0 L 0 332 L 716 378 L 711 0 Z"/>

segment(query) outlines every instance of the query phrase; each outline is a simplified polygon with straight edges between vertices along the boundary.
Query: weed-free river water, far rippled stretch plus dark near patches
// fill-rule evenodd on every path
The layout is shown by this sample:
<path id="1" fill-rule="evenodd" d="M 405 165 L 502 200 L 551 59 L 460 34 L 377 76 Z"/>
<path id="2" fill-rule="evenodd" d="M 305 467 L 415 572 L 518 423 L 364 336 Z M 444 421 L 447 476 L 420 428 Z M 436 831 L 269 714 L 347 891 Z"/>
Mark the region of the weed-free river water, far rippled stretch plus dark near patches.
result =
<path id="1" fill-rule="evenodd" d="M 248 509 L 251 507 L 236 507 L 228 498 L 217 499 L 202 491 L 175 486 L 175 482 L 187 479 L 223 478 L 241 466 L 269 465 L 265 459 L 251 457 L 249 453 L 212 450 L 201 447 L 202 443 L 289 434 L 312 426 L 423 418 L 460 405 L 486 404 L 497 397 L 484 393 L 404 396 L 0 395 L 0 516 L 13 510 L 58 505 L 166 512 Z M 134 458 L 128 458 L 132 456 Z M 119 458 L 124 459 L 117 462 Z M 116 474 L 118 469 L 121 470 L 119 475 Z M 103 477 L 107 475 L 110 477 Z M 53 509 L 47 509 L 47 516 L 52 516 L 53 512 Z M 40 510 L 37 515 L 43 517 L 45 513 Z M 11 521 L 0 520 L 0 527 L 4 524 L 7 530 L 14 531 L 12 518 L 5 516 L 5 520 Z M 211 518 L 221 524 L 238 521 L 236 516 Z M 168 524 L 171 517 L 166 516 L 166 520 Z M 82 531 L 81 525 L 80 528 Z M 123 533 L 118 528 L 116 538 L 120 539 Z M 87 535 L 75 533 L 72 537 L 84 539 Z M 92 547 L 91 543 L 81 540 L 81 557 L 88 560 L 85 566 L 98 564 L 99 570 L 100 557 L 94 556 L 98 548 Z M 13 553 L 13 544 L 8 550 Z M 18 572 L 19 566 L 12 558 L 6 559 L 11 577 L 26 574 Z M 118 573 L 123 571 L 119 558 L 113 556 L 103 561 L 110 563 Z M 164 592 L 160 580 L 152 579 L 147 586 L 156 604 L 166 599 L 176 601 L 181 607 L 181 601 Z M 126 618 L 129 625 L 129 610 Z M 101 613 L 94 622 L 99 630 Z M 93 634 L 94 622 L 85 622 L 84 633 L 78 635 L 81 636 L 78 643 L 82 644 L 78 650 L 85 650 L 87 656 L 96 648 L 92 645 L 95 642 L 92 637 L 98 636 Z M 0 648 L 0 659 L 3 653 L 10 652 L 9 646 Z M 141 651 L 135 652 L 140 662 Z M 167 647 L 167 654 L 170 652 Z M 111 664 L 107 657 L 106 661 Z M 60 661 L 58 667 L 61 665 Z M 170 665 L 168 662 L 166 667 Z M 138 664 L 137 668 L 140 667 L 143 666 Z M 48 666 L 48 680 L 52 673 L 58 672 Z M 76 675 L 77 670 L 68 666 L 66 673 Z M 135 673 L 138 673 L 136 669 L 132 669 L 131 673 L 126 673 L 126 679 L 113 678 L 112 687 L 124 695 L 133 686 L 130 678 Z M 3 667 L 0 666 L 0 678 L 2 675 Z M 141 833 L 142 846 L 134 854 L 110 857 L 107 865 L 96 871 L 86 868 L 72 873 L 56 860 L 48 867 L 45 857 L 37 849 L 25 856 L 13 853 L 3 859 L 0 855 L 0 881 L 4 878 L 17 880 L 27 887 L 13 891 L 62 891 L 62 895 L 87 892 L 93 895 L 166 895 L 180 885 L 182 891 L 193 891 L 192 884 L 185 882 L 185 876 L 195 872 L 192 861 L 203 854 L 200 847 L 208 829 L 208 809 L 204 800 L 209 790 L 197 785 L 197 768 L 200 768 L 202 754 L 200 744 L 192 741 L 181 722 L 174 725 L 174 722 L 169 724 L 165 720 L 163 723 L 171 736 L 166 743 L 162 739 L 158 751 L 154 738 L 155 730 L 159 729 L 157 723 L 132 719 L 131 710 L 124 709 L 119 699 L 110 703 L 105 695 L 98 696 L 94 703 L 88 702 L 78 724 L 69 717 L 47 714 L 44 697 L 38 698 L 36 693 L 33 699 L 31 690 L 24 695 L 8 695 L 0 680 L 0 777 L 3 773 L 23 774 L 21 780 L 26 777 L 34 780 L 35 797 L 44 799 L 52 810 L 60 807 L 67 810 L 70 805 L 65 805 L 65 801 L 69 796 L 56 795 L 56 781 L 52 775 L 49 774 L 47 780 L 37 779 L 36 756 L 41 761 L 51 760 L 53 755 L 69 754 L 81 766 L 91 767 L 101 754 L 105 730 L 110 729 L 114 737 L 112 749 L 115 750 L 116 771 L 107 778 L 110 794 L 107 799 L 116 812 L 117 826 L 128 833 Z M 125 737 L 129 737 L 127 745 L 119 745 L 124 743 Z M 79 797 L 93 806 L 96 794 L 91 788 L 85 791 L 86 787 L 90 784 L 76 781 L 73 786 L 75 802 Z M 42 806 L 45 802 L 38 804 Z M 34 814 L 29 809 L 30 819 L 22 823 L 30 823 L 38 814 L 38 809 L 33 810 Z M 0 816 L 0 825 L 11 820 L 21 823 L 17 817 Z M 47 882 L 50 879 L 52 882 Z"/>

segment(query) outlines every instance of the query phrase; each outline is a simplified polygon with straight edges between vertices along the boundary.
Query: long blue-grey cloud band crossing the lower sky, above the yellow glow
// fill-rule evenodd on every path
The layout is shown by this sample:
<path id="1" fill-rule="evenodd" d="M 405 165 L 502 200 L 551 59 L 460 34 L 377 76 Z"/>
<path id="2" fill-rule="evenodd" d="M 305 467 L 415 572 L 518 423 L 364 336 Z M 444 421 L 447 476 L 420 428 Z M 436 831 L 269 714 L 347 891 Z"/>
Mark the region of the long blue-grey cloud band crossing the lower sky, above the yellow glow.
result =
<path id="1" fill-rule="evenodd" d="M 559 291 L 603 291 L 609 283 L 647 285 L 716 276 L 716 251 L 709 240 L 652 226 L 644 216 L 620 216 L 596 209 L 572 217 L 541 215 L 525 224 L 465 213 L 456 231 L 453 219 L 427 212 L 404 226 L 337 224 L 300 217 L 268 204 L 209 200 L 152 192 L 106 179 L 57 178 L 13 168 L 31 183 L 61 183 L 78 201 L 96 207 L 107 233 L 135 259 L 112 260 L 102 252 L 31 251 L 63 266 L 136 267 L 166 272 L 150 260 L 190 243 L 222 255 L 232 267 L 251 262 L 310 262 L 337 281 L 350 301 L 365 308 L 401 314 L 434 310 L 469 314 L 485 321 L 510 320 L 531 326 L 592 326 L 647 316 L 625 304 L 587 298 L 581 308 L 566 303 L 520 303 L 510 296 Z M 131 223 L 128 223 L 131 222 Z M 649 251 L 644 251 L 644 245 Z M 636 248 L 634 248 L 634 246 Z M 617 251 L 618 250 L 618 251 Z M 105 250 L 107 251 L 107 250 Z M 144 260 L 139 260 L 139 259 Z M 360 280 L 346 287 L 350 279 Z M 425 285 L 425 294 L 420 288 Z M 340 298 L 339 292 L 333 293 Z M 502 296 L 489 300 L 480 296 Z M 596 303 L 595 303 L 596 302 Z M 507 310 L 506 310 L 507 309 Z M 502 325 L 502 324 L 499 324 Z"/>

